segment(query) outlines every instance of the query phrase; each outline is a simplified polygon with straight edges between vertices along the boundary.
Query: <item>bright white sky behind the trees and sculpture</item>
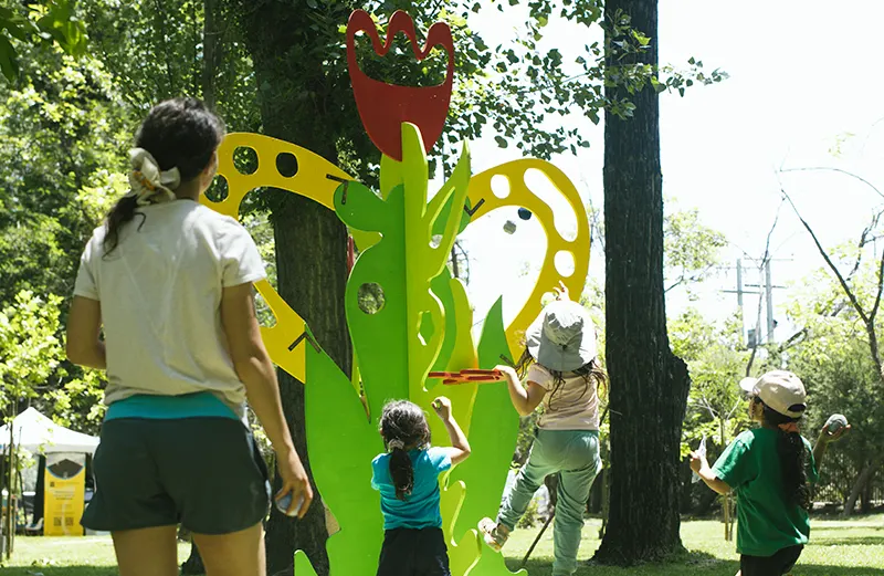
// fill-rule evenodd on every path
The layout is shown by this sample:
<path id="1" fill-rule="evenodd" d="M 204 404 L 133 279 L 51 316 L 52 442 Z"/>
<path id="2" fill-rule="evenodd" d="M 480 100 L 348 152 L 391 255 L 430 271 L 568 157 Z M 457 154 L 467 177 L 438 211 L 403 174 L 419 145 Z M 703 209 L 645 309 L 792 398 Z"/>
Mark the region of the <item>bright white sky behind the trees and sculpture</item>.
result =
<path id="1" fill-rule="evenodd" d="M 517 9 L 505 14 L 486 9 L 472 17 L 470 25 L 495 45 L 515 38 L 519 19 L 524 22 L 525 17 Z M 688 88 L 684 97 L 661 96 L 667 206 L 698 209 L 704 224 L 727 237 L 722 256 L 732 266 L 698 289 L 697 301 L 673 291 L 670 316 L 688 305 L 714 320 L 733 314 L 736 295 L 724 291 L 736 287 L 736 261 L 744 259 L 744 282 L 758 283 L 758 271 L 747 259 L 764 254 L 779 213 L 770 242 L 771 274 L 774 285 L 786 287 L 774 292 L 779 322 L 774 337 L 790 335 L 783 305 L 793 284 L 823 262 L 791 208 L 780 206 L 780 186 L 825 247 L 855 241 L 884 198 L 844 175 L 781 170 L 835 167 L 884 189 L 884 80 L 877 30 L 882 21 L 884 3 L 874 0 L 660 0 L 661 64 L 684 66 L 694 56 L 705 69 L 729 74 L 720 84 Z M 592 33 L 600 38 L 598 29 Z M 587 35 L 552 20 L 546 42 L 559 48 L 567 61 L 577 56 Z M 552 163 L 586 202 L 601 207 L 603 127 L 569 122 L 585 125 L 591 147 Z M 492 134 L 471 143 L 471 149 L 474 172 L 517 158 L 515 148 L 499 149 Z M 515 233 L 503 231 L 506 220 L 517 223 Z M 471 224 L 462 238 L 471 256 L 469 291 L 476 318 L 501 294 L 505 317 L 512 318 L 539 270 L 545 250 L 539 226 L 518 220 L 515 210 L 498 210 Z M 603 284 L 603 258 L 593 253 L 590 276 Z M 747 295 L 747 324 L 755 324 L 757 306 L 757 296 Z"/>

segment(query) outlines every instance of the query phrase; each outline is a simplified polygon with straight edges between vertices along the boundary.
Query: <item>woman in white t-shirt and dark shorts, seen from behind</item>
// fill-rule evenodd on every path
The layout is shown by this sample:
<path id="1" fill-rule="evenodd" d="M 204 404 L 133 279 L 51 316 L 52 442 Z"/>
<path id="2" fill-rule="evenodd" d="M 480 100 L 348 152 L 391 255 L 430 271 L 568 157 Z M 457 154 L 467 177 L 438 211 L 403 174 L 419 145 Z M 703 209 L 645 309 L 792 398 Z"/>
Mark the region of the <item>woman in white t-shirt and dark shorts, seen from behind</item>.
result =
<path id="1" fill-rule="evenodd" d="M 246 398 L 276 452 L 277 498 L 299 516 L 313 499 L 255 317 L 261 256 L 242 226 L 198 201 L 223 136 L 197 100 L 155 106 L 129 154 L 131 189 L 76 279 L 67 357 L 108 383 L 82 522 L 112 532 L 122 576 L 177 575 L 179 523 L 209 576 L 264 576 L 270 483 Z"/>

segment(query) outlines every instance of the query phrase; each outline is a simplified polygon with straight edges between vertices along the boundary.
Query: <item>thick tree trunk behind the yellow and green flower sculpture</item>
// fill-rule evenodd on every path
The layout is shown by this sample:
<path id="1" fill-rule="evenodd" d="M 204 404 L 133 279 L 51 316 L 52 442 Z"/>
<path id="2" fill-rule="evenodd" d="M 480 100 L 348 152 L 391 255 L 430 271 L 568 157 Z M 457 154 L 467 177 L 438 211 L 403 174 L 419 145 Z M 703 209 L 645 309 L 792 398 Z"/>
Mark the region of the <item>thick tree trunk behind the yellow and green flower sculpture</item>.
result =
<path id="1" fill-rule="evenodd" d="M 324 90 L 341 84 L 326 77 L 311 11 L 305 2 L 269 0 L 240 2 L 246 42 L 252 53 L 260 93 L 263 133 L 336 161 L 336 136 L 328 128 L 339 123 L 335 109 L 326 111 Z M 332 9 L 329 9 L 332 10 Z M 323 13 L 330 21 L 346 22 L 340 14 Z M 335 122 L 333 122 L 335 119 Z M 276 243 L 277 291 L 305 320 L 319 345 L 350 374 L 351 349 L 344 311 L 347 281 L 347 229 L 335 213 L 313 200 L 274 191 L 270 201 Z M 293 334 L 294 341 L 298 334 Z M 322 383 L 317 383 L 317 386 Z M 304 426 L 304 386 L 280 370 L 283 409 L 307 473 Z M 367 463 L 368 464 L 368 463 Z M 278 473 L 274 491 L 280 488 Z M 267 574 L 294 574 L 294 551 L 303 549 L 318 575 L 328 574 L 325 511 L 316 486 L 316 499 L 304 520 L 291 520 L 271 511 L 267 522 Z"/>

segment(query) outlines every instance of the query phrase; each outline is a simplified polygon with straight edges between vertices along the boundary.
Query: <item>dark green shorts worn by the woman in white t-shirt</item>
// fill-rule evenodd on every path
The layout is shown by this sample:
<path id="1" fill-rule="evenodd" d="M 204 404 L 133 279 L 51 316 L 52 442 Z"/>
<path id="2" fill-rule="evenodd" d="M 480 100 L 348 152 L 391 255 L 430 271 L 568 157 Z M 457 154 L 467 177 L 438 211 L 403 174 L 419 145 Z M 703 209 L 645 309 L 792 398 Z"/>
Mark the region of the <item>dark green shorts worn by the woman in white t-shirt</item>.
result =
<path id="1" fill-rule="evenodd" d="M 82 521 L 91 530 L 182 524 L 230 534 L 267 515 L 266 465 L 232 418 L 108 420 L 93 464 L 96 491 Z"/>

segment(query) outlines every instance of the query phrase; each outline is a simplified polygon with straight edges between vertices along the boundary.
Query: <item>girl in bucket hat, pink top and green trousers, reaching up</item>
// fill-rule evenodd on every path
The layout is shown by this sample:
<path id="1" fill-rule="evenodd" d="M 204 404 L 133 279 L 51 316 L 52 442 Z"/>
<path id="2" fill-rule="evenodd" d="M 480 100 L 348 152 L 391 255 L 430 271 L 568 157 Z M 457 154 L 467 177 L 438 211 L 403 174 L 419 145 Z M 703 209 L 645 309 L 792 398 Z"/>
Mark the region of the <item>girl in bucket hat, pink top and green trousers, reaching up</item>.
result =
<path id="1" fill-rule="evenodd" d="M 525 333 L 527 346 L 516 369 L 497 367 L 506 375 L 519 415 L 530 415 L 540 404 L 544 412 L 528 461 L 504 494 L 496 522 L 483 519 L 478 528 L 485 543 L 499 551 L 544 479 L 558 473 L 552 575 L 565 576 L 577 569 L 583 511 L 601 470 L 599 386 L 604 386 L 607 375 L 586 310 L 568 300 L 564 285 L 556 292 L 556 302 Z"/>

